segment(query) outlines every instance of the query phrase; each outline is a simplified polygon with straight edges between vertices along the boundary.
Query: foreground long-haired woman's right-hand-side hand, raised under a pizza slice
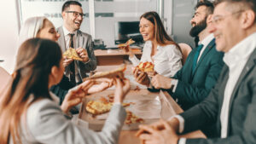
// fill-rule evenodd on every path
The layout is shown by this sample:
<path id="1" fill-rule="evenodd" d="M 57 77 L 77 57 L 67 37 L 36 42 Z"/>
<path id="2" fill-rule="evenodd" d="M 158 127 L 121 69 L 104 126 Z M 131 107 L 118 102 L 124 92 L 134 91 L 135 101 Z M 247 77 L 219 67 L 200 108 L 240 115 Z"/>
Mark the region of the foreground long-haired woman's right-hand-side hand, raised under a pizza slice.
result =
<path id="1" fill-rule="evenodd" d="M 130 81 L 129 79 L 120 79 L 115 78 L 115 91 L 114 91 L 114 98 L 113 102 L 120 102 L 122 103 L 125 99 L 125 95 L 130 91 Z"/>

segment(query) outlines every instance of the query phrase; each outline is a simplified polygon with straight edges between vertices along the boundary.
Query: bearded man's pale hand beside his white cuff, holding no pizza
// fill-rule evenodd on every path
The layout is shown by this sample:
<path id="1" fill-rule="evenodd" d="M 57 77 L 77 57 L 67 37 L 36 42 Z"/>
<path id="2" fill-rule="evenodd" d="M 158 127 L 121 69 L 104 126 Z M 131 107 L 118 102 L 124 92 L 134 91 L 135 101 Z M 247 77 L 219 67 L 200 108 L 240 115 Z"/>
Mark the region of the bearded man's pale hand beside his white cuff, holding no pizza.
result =
<path id="1" fill-rule="evenodd" d="M 172 78 L 166 78 L 160 74 L 155 75 L 151 80 L 151 84 L 155 89 L 171 89 L 171 82 Z"/>

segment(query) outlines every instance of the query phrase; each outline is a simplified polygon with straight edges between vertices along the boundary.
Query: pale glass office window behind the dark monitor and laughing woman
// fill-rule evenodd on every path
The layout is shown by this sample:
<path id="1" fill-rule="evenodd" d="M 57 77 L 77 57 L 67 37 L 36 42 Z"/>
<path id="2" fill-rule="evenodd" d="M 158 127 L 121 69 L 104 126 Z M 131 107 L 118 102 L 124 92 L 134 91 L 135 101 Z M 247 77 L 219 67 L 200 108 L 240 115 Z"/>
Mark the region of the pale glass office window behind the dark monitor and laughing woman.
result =
<path id="1" fill-rule="evenodd" d="M 119 21 L 139 21 L 148 11 L 158 10 L 158 0 L 98 0 L 95 1 L 95 38 L 102 38 L 113 47 L 115 25 Z"/>

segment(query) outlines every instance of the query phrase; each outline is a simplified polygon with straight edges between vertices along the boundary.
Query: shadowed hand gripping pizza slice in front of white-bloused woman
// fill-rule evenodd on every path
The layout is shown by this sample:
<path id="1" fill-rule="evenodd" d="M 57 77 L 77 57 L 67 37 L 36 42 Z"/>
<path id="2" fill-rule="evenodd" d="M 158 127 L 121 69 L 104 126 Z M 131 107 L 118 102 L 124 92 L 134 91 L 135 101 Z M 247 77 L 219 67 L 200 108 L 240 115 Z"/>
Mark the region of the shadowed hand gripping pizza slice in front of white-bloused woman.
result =
<path id="1" fill-rule="evenodd" d="M 135 68 L 133 70 L 133 76 L 138 84 L 149 86 L 150 80 L 146 72 L 142 72 L 138 68 Z"/>

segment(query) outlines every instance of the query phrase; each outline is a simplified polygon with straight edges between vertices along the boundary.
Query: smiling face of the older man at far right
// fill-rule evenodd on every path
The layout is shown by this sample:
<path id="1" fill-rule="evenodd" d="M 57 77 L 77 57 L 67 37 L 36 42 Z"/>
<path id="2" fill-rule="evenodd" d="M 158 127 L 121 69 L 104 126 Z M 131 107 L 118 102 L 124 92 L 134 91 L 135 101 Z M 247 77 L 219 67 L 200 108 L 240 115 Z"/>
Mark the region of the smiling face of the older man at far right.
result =
<path id="1" fill-rule="evenodd" d="M 227 9 L 228 4 L 219 3 L 214 9 L 213 24 L 210 29 L 216 39 L 216 49 L 223 52 L 228 52 L 236 43 L 239 43 L 244 32 L 240 17 L 236 15 L 239 9 Z"/>

